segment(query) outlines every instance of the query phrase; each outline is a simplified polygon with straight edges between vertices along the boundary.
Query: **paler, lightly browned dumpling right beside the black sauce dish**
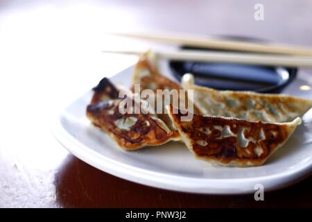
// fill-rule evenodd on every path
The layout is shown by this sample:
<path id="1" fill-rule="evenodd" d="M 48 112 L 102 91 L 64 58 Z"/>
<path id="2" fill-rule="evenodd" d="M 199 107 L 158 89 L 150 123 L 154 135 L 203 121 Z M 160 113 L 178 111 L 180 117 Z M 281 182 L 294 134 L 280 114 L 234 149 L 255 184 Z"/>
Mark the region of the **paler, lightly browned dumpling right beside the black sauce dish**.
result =
<path id="1" fill-rule="evenodd" d="M 191 74 L 182 78 L 184 89 L 193 89 L 189 99 L 205 116 L 234 117 L 248 121 L 287 122 L 302 116 L 312 101 L 282 94 L 220 91 L 194 85 Z"/>

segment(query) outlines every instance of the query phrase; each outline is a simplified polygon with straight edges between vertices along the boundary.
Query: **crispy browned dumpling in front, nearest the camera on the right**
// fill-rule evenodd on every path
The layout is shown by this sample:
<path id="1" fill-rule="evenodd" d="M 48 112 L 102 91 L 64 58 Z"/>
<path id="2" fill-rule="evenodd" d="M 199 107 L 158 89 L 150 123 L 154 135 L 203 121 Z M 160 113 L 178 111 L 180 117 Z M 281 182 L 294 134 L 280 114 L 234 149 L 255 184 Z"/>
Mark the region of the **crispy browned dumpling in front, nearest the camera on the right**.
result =
<path id="1" fill-rule="evenodd" d="M 172 105 L 167 109 L 182 141 L 196 157 L 229 167 L 263 164 L 301 123 L 300 117 L 289 123 L 264 123 L 200 114 L 193 114 L 191 121 L 180 121 L 185 114 Z"/>

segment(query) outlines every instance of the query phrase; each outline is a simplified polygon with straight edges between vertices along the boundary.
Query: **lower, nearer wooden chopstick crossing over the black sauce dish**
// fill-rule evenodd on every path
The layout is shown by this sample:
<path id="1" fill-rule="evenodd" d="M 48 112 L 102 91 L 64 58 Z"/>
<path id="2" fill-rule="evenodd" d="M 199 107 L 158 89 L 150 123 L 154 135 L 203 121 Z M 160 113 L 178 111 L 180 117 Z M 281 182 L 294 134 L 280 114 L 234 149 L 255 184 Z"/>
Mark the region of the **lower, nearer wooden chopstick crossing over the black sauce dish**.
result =
<path id="1" fill-rule="evenodd" d="M 114 51 L 105 50 L 105 53 L 122 53 L 141 56 L 144 51 Z M 279 56 L 261 55 L 257 53 L 229 53 L 219 51 L 153 51 L 156 58 L 168 60 L 182 60 L 193 62 L 226 62 L 249 65 L 268 65 L 283 67 L 312 67 L 312 56 Z"/>

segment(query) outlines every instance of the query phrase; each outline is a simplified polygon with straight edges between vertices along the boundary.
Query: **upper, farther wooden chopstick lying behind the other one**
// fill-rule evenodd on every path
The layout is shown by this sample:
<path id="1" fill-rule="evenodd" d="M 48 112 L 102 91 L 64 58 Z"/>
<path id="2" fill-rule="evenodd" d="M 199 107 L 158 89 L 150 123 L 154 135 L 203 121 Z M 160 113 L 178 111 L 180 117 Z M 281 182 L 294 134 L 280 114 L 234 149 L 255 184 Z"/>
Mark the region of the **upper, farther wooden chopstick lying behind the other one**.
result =
<path id="1" fill-rule="evenodd" d="M 209 49 L 225 49 L 234 51 L 247 51 L 253 53 L 275 53 L 297 56 L 312 56 L 312 49 L 303 46 L 288 46 L 282 44 L 264 44 L 255 42 L 242 42 L 234 40 L 220 40 L 214 38 L 192 35 L 159 35 L 144 33 L 110 33 L 124 37 L 135 37 L 143 40 L 197 46 Z"/>

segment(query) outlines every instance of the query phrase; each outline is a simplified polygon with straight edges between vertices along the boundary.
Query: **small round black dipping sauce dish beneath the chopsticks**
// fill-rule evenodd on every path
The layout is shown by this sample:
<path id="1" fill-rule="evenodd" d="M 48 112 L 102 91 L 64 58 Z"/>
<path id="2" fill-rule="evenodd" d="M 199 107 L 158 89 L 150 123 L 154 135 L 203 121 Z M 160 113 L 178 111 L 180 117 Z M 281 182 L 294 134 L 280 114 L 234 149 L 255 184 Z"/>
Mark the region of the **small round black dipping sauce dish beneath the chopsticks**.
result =
<path id="1" fill-rule="evenodd" d="M 245 37 L 226 38 L 231 40 L 259 42 L 259 40 L 251 40 Z M 181 46 L 180 48 L 181 50 L 225 51 L 189 46 Z M 244 53 L 242 51 L 237 52 Z M 195 78 L 196 85 L 222 90 L 253 91 L 261 93 L 279 93 L 284 87 L 291 83 L 297 75 L 297 67 L 270 67 L 224 62 L 190 62 L 175 60 L 170 60 L 169 66 L 173 76 L 179 81 L 184 74 L 191 73 Z"/>

